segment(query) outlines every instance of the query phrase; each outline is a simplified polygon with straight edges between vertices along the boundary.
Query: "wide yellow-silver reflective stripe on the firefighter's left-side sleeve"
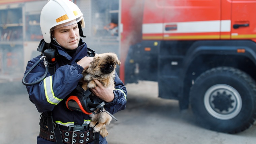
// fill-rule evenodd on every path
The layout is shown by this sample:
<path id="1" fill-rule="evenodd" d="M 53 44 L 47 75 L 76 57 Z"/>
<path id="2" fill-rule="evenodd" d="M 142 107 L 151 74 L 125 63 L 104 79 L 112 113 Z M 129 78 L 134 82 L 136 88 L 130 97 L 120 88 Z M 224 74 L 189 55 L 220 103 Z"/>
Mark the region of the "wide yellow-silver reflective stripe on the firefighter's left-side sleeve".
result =
<path id="1" fill-rule="evenodd" d="M 51 104 L 58 104 L 62 99 L 54 96 L 52 76 L 46 77 L 43 80 L 44 92 L 47 101 Z"/>

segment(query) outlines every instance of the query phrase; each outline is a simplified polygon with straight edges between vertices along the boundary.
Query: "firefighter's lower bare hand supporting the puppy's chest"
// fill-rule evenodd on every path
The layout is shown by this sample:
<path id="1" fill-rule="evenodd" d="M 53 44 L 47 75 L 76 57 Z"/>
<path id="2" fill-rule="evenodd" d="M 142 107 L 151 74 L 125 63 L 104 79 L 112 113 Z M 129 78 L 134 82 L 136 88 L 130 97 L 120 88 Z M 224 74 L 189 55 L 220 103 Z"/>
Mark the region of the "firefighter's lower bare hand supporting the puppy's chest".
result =
<path id="1" fill-rule="evenodd" d="M 92 92 L 99 97 L 100 99 L 111 102 L 114 100 L 114 93 L 112 86 L 104 87 L 98 80 L 94 79 L 95 83 L 97 84 L 96 87 L 92 88 Z"/>

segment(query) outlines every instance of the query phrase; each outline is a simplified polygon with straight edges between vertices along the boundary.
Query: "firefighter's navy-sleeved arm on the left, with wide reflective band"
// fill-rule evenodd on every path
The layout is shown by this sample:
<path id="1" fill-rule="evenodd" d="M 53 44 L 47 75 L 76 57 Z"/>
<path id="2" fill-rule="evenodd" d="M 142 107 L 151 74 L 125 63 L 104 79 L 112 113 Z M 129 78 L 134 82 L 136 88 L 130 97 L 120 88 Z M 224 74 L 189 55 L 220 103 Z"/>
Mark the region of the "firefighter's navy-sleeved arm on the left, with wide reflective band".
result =
<path id="1" fill-rule="evenodd" d="M 36 61 L 28 62 L 27 70 Z M 35 85 L 27 86 L 30 100 L 36 105 L 38 112 L 52 111 L 54 106 L 63 100 L 83 77 L 83 67 L 74 63 L 58 68 L 54 75 L 48 73 L 45 79 Z M 39 63 L 27 76 L 26 82 L 31 83 L 40 79 L 45 72 L 42 63 Z"/>

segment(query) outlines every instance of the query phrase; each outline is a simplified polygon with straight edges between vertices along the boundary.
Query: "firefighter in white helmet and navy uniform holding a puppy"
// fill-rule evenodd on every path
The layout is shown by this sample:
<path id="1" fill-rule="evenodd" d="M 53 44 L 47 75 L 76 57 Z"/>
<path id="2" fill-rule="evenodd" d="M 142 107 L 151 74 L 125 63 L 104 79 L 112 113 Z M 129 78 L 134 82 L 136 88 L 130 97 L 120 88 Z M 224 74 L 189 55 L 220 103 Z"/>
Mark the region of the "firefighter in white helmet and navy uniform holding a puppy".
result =
<path id="1" fill-rule="evenodd" d="M 56 49 L 54 73 L 34 85 L 27 85 L 29 99 L 35 104 L 40 115 L 40 134 L 37 144 L 60 143 L 100 143 L 107 144 L 99 135 L 99 141 L 89 129 L 89 115 L 70 111 L 66 108 L 65 98 L 78 85 L 83 77 L 83 70 L 89 67 L 92 57 L 87 56 L 87 45 L 80 37 L 85 27 L 81 10 L 69 0 L 49 0 L 40 15 L 43 40 L 38 49 Z M 45 48 L 46 47 L 46 48 Z M 41 56 L 30 60 L 25 74 L 37 64 Z M 38 63 L 27 75 L 26 82 L 33 83 L 45 72 L 43 62 Z M 115 88 L 103 87 L 95 80 L 97 86 L 91 91 L 105 101 L 104 108 L 110 114 L 124 110 L 126 106 L 126 87 L 116 74 Z"/>

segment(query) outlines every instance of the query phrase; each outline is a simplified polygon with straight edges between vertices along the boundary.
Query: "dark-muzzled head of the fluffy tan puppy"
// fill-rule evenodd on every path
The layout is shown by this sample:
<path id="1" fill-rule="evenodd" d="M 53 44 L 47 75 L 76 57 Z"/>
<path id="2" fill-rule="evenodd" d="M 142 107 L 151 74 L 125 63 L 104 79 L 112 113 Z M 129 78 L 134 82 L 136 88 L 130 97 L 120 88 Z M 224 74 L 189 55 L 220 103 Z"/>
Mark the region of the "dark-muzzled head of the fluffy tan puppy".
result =
<path id="1" fill-rule="evenodd" d="M 96 54 L 91 62 L 93 71 L 96 75 L 109 74 L 115 71 L 120 60 L 114 53 Z"/>

